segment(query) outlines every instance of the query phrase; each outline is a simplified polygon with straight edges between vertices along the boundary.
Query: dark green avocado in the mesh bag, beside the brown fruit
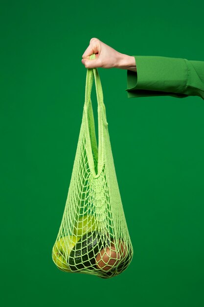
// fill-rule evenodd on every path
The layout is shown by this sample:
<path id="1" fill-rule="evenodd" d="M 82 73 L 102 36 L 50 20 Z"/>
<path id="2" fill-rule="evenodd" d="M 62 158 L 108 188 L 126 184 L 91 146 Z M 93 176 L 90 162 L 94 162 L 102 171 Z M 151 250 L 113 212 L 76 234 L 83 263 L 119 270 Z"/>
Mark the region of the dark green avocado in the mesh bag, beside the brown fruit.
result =
<path id="1" fill-rule="evenodd" d="M 104 237 L 100 231 L 88 232 L 76 243 L 68 257 L 68 265 L 72 271 L 88 268 L 97 269 L 95 257 L 105 246 L 110 246 L 108 237 Z"/>

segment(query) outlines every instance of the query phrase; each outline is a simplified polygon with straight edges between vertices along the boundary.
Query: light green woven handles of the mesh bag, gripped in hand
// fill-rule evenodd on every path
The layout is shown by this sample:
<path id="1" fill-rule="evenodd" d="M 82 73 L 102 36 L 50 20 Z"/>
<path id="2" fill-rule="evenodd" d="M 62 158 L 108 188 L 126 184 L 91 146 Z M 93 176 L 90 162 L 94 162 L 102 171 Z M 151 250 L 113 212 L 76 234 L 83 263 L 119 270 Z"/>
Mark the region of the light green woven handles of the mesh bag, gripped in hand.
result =
<path id="1" fill-rule="evenodd" d="M 91 54 L 90 59 L 94 59 L 95 54 Z M 98 148 L 95 136 L 93 109 L 91 104 L 91 89 L 93 85 L 93 78 L 95 79 L 96 96 L 98 103 Z M 104 165 L 104 128 L 107 128 L 108 123 L 106 119 L 106 108 L 103 102 L 103 91 L 100 77 L 97 68 L 87 69 L 85 103 L 84 103 L 84 118 L 85 118 L 85 135 L 86 135 L 86 149 L 89 166 L 93 178 L 100 176 Z M 94 167 L 94 159 L 97 161 L 97 174 Z"/>

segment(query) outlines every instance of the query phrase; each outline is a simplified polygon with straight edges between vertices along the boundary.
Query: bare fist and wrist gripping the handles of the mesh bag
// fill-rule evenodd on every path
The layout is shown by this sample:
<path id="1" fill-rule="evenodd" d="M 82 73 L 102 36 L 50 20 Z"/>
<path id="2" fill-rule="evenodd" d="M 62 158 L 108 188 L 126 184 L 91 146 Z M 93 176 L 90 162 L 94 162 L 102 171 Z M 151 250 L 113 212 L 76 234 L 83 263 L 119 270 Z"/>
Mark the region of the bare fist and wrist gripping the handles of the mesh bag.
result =
<path id="1" fill-rule="evenodd" d="M 90 60 L 91 54 L 95 54 L 95 59 Z M 120 53 L 98 38 L 91 38 L 90 45 L 82 55 L 82 63 L 86 68 L 120 68 L 136 72 L 136 61 L 134 56 Z"/>

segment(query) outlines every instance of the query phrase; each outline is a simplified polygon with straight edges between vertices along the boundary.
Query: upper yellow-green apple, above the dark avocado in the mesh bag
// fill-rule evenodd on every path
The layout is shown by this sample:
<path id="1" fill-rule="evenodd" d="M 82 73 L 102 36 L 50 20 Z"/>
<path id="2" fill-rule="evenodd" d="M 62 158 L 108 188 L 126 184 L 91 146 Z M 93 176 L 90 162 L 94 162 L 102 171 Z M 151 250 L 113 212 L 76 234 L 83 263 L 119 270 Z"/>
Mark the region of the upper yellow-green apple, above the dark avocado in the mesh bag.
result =
<path id="1" fill-rule="evenodd" d="M 80 216 L 78 221 L 74 225 L 73 234 L 83 236 L 85 233 L 97 230 L 96 222 L 93 215 Z"/>

